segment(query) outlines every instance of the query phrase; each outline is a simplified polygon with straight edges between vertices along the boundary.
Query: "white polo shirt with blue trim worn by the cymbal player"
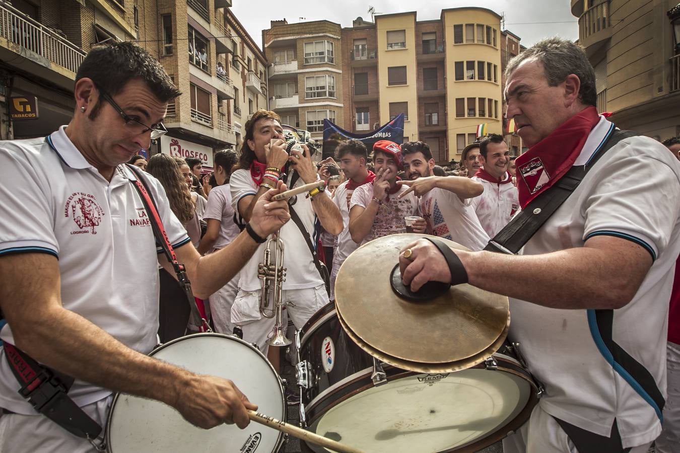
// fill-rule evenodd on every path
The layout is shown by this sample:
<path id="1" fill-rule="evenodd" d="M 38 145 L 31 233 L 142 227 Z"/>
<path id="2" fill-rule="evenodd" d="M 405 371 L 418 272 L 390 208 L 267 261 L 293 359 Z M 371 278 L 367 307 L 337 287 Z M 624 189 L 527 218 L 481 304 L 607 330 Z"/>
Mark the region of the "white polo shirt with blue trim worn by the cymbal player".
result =
<path id="1" fill-rule="evenodd" d="M 588 162 L 613 124 L 601 117 L 575 165 Z M 614 310 L 613 340 L 644 365 L 666 395 L 668 300 L 680 253 L 680 163 L 648 137 L 620 141 L 600 158 L 575 192 L 521 253 L 583 247 L 606 235 L 627 238 L 654 258 L 633 300 Z M 621 276 L 621 278 L 626 278 Z M 602 355 L 594 310 L 558 310 L 510 300 L 510 337 L 522 344 L 531 372 L 545 384 L 539 401 L 552 416 L 609 436 L 616 418 L 623 446 L 655 439 L 659 418 Z"/>

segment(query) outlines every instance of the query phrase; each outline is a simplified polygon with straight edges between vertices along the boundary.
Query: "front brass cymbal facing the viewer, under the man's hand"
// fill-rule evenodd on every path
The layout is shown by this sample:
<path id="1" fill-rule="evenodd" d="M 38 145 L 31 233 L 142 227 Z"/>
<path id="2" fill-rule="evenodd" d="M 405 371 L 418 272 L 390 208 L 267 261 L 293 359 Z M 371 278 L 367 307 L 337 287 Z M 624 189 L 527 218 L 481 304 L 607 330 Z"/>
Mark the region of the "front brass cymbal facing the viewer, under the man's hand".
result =
<path id="1" fill-rule="evenodd" d="M 471 285 L 456 285 L 425 302 L 396 295 L 390 272 L 399 251 L 422 237 L 384 236 L 347 257 L 335 283 L 338 314 L 364 344 L 395 360 L 435 365 L 477 357 L 503 333 L 509 320 L 508 299 Z"/>

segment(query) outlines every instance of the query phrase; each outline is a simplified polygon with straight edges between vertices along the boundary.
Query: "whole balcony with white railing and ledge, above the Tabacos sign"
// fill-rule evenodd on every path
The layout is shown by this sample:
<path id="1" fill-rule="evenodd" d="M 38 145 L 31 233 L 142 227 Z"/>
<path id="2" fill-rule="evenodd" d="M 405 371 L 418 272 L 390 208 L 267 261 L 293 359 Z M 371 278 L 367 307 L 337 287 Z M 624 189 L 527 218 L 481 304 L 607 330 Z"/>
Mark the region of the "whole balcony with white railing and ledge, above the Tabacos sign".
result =
<path id="1" fill-rule="evenodd" d="M 85 53 L 65 37 L 14 7 L 0 5 L 0 60 L 73 90 Z"/>

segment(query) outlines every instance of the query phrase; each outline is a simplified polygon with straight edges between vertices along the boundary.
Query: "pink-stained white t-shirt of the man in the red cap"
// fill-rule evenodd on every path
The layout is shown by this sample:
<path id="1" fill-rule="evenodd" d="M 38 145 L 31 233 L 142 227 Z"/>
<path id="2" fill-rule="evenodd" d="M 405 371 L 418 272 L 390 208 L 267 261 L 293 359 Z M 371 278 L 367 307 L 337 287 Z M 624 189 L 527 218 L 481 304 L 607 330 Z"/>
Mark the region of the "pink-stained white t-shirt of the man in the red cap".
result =
<path id="1" fill-rule="evenodd" d="M 418 209 L 418 198 L 413 192 L 407 194 L 404 198 L 399 198 L 399 194 L 406 192 L 409 187 L 403 185 L 396 194 L 390 194 L 387 201 L 383 202 L 378 212 L 373 219 L 373 226 L 371 231 L 361 242 L 365 244 L 369 240 L 388 236 L 389 234 L 398 234 L 406 232 L 406 223 L 404 217 L 409 215 L 420 215 Z M 360 185 L 354 189 L 352 200 L 350 201 L 350 211 L 354 206 L 361 206 L 366 208 L 373 198 L 373 184 Z"/>

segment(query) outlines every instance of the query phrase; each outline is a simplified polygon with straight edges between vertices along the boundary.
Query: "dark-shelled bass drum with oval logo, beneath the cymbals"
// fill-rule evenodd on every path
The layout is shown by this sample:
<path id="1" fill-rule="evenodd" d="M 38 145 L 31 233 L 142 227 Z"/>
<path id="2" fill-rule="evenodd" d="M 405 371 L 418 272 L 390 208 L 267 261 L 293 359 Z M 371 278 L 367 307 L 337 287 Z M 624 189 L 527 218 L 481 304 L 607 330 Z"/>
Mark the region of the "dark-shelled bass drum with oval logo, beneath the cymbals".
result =
<path id="1" fill-rule="evenodd" d="M 309 429 L 367 453 L 475 452 L 521 427 L 538 401 L 537 384 L 508 342 L 455 373 L 381 364 L 386 382 L 374 384 L 373 357 L 347 336 L 333 303 L 300 337 L 311 381 L 303 398 Z"/>

